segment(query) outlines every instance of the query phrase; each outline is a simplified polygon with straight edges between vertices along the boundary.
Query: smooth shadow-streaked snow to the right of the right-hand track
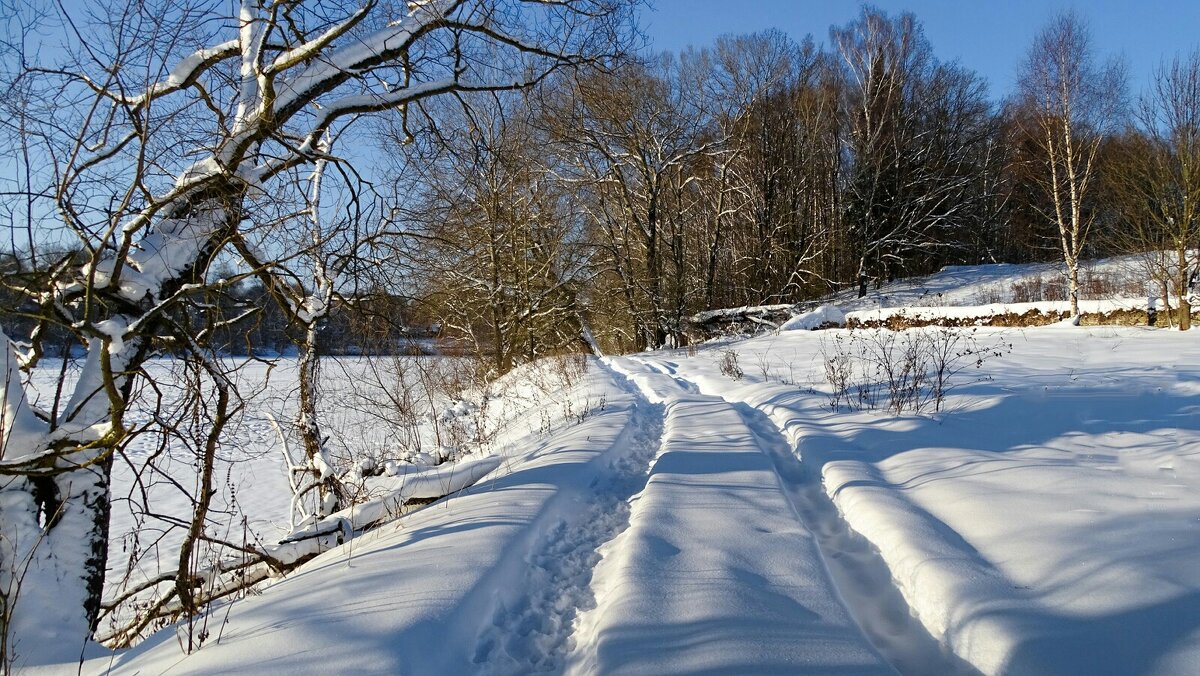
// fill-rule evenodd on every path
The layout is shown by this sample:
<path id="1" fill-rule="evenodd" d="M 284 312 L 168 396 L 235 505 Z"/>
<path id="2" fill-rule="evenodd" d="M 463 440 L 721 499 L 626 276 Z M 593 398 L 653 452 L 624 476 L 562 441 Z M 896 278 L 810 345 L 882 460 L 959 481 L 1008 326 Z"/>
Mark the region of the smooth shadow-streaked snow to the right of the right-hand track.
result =
<path id="1" fill-rule="evenodd" d="M 937 417 L 830 412 L 817 334 L 738 343 L 743 363 L 774 367 L 744 383 L 703 354 L 659 364 L 784 430 L 930 635 L 980 671 L 1193 670 L 1196 334 L 980 333 L 1013 352 Z M 808 372 L 799 388 L 784 366 Z"/>

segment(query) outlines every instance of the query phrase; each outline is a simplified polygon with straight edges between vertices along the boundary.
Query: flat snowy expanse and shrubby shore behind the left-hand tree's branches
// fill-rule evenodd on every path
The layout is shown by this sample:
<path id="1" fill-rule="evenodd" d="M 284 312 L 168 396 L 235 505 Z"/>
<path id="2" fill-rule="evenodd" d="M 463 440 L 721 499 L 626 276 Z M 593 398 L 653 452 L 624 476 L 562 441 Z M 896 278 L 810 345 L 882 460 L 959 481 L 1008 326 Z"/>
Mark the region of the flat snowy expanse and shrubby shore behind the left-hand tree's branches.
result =
<path id="1" fill-rule="evenodd" d="M 235 359 L 229 358 L 230 364 Z M 67 364 L 67 382 L 76 377 L 77 366 Z M 452 359 L 326 359 L 318 403 L 326 445 L 340 467 L 365 461 L 385 469 L 366 480 L 353 472 L 347 478 L 361 497 L 374 498 L 348 512 L 350 521 L 372 521 L 409 497 L 445 495 L 468 474 L 494 467 L 506 457 L 508 439 L 559 426 L 596 405 L 598 397 L 586 388 L 578 393 L 580 401 L 572 402 L 580 407 L 577 411 L 541 402 L 546 383 L 562 378 L 557 372 L 546 372 L 562 369 L 547 366 L 527 369 L 521 377 L 496 383 L 487 399 L 475 393 L 472 400 L 451 400 L 445 393 L 430 396 L 421 375 L 439 382 L 434 376 L 464 376 L 463 365 Z M 34 373 L 35 391 L 47 406 L 60 367 L 61 363 L 48 363 Z M 161 396 L 148 388 L 136 400 L 131 424 L 149 424 L 155 406 L 163 418 L 178 418 L 173 412 L 185 396 L 185 388 L 178 385 L 185 377 L 181 364 L 158 359 L 146 369 L 164 384 L 157 389 Z M 395 402 L 380 393 L 380 387 L 397 389 L 395 381 L 401 377 L 409 381 L 413 395 L 410 419 L 404 419 Z M 296 363 L 247 360 L 236 370 L 236 378 L 246 403 L 217 450 L 209 534 L 235 544 L 270 548 L 293 530 L 281 432 L 289 437 L 292 453 L 300 453 L 293 427 Z M 437 426 L 432 424 L 434 418 Z M 443 460 L 455 462 L 434 466 Z M 106 598 L 175 569 L 198 490 L 198 462 L 193 444 L 158 433 L 136 437 L 125 453 L 115 456 Z M 391 499 L 383 499 L 389 496 Z M 124 610 L 102 622 L 101 635 L 128 620 Z"/>

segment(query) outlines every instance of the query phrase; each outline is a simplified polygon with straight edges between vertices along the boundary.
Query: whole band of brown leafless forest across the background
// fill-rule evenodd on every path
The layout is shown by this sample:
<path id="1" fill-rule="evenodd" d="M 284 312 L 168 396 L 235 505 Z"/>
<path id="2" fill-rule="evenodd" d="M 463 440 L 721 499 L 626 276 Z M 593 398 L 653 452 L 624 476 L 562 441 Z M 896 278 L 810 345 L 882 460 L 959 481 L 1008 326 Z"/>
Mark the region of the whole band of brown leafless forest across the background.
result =
<path id="1" fill-rule="evenodd" d="M 997 97 L 938 59 L 917 17 L 864 6 L 821 43 L 730 35 L 376 120 L 356 152 L 377 178 L 343 180 L 326 208 L 340 274 L 324 349 L 439 336 L 504 372 L 593 340 L 680 345 L 706 310 L 865 295 L 948 264 L 1064 261 L 1072 276 L 1081 257 L 1145 250 L 1178 250 L 1160 265 L 1174 293 L 1198 228 L 1198 59 L 1130 100 L 1094 48 L 1081 17 L 1055 19 Z M 278 219 L 287 201 L 271 199 L 246 217 Z M 302 339 L 275 282 L 217 270 L 241 280 L 226 315 L 258 309 L 218 345 Z"/>

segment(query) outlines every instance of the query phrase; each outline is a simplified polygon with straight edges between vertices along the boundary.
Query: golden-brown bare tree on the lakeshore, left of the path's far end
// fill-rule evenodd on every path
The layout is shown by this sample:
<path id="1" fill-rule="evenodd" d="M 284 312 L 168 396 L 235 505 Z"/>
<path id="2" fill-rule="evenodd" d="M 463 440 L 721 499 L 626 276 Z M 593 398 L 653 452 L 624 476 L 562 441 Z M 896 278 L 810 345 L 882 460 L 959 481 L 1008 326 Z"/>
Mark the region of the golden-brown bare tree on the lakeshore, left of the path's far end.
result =
<path id="1" fill-rule="evenodd" d="M 586 253 L 540 151 L 538 112 L 517 94 L 446 108 L 440 151 L 421 172 L 420 245 L 406 252 L 420 295 L 493 375 L 578 351 Z"/>

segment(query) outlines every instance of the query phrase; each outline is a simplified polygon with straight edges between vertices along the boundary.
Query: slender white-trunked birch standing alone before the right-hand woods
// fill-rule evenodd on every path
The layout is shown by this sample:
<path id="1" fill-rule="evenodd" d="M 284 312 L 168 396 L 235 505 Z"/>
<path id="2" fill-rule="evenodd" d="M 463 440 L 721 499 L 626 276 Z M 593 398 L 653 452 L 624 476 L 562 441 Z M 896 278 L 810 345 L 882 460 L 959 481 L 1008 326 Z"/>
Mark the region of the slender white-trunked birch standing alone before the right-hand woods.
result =
<path id="1" fill-rule="evenodd" d="M 1100 143 L 1123 106 L 1124 68 L 1098 62 L 1086 22 L 1073 12 L 1050 20 L 1021 64 L 1019 95 L 1032 112 L 1027 136 L 1038 145 L 1038 179 L 1050 202 L 1067 267 L 1070 313 L 1079 321 L 1079 261 L 1097 213 L 1091 197 Z"/>

